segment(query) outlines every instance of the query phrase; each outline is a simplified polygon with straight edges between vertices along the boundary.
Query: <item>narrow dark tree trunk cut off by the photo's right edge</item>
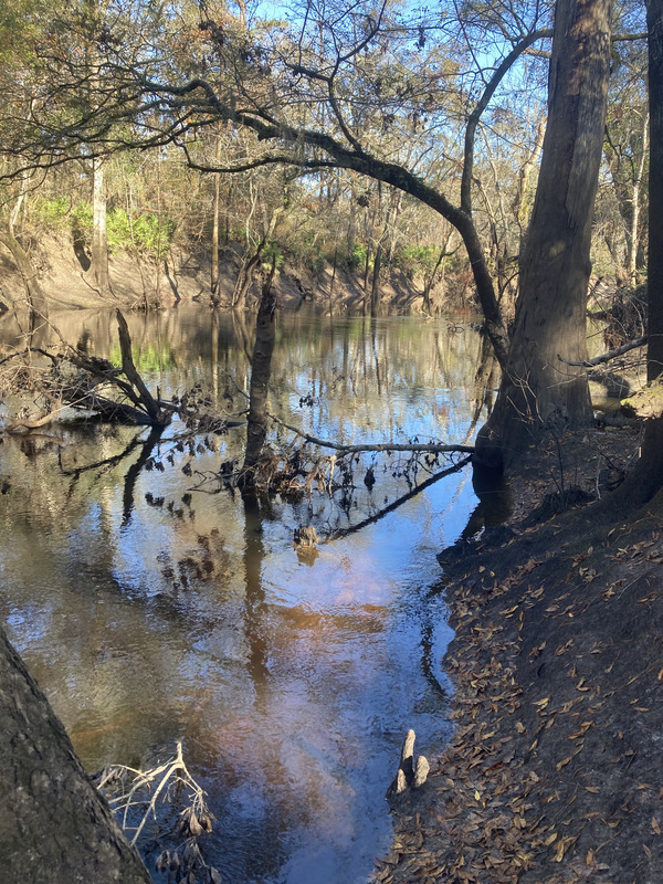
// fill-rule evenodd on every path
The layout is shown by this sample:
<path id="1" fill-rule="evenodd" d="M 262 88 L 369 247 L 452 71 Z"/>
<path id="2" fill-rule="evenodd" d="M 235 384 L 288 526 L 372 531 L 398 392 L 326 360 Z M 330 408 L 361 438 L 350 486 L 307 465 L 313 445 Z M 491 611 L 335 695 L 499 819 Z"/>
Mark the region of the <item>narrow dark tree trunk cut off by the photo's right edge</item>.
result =
<path id="1" fill-rule="evenodd" d="M 663 4 L 646 0 L 649 32 L 650 180 L 649 180 L 649 338 L 650 383 L 663 380 Z M 663 417 L 648 420 L 641 456 L 633 473 L 611 497 L 621 512 L 650 501 L 663 487 Z"/>

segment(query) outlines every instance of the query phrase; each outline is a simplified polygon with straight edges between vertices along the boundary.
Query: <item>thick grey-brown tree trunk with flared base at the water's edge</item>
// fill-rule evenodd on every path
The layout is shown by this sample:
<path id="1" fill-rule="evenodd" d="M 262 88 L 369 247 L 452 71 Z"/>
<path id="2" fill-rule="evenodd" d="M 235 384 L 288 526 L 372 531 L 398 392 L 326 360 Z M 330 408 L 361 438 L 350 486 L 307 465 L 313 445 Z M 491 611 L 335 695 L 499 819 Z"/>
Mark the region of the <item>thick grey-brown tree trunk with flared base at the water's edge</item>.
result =
<path id="1" fill-rule="evenodd" d="M 591 420 L 587 358 L 591 222 L 601 162 L 611 0 L 558 0 L 548 125 L 532 224 L 520 256 L 520 296 L 495 409 L 477 461 L 508 467 L 547 429 Z"/>

